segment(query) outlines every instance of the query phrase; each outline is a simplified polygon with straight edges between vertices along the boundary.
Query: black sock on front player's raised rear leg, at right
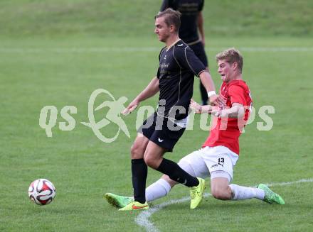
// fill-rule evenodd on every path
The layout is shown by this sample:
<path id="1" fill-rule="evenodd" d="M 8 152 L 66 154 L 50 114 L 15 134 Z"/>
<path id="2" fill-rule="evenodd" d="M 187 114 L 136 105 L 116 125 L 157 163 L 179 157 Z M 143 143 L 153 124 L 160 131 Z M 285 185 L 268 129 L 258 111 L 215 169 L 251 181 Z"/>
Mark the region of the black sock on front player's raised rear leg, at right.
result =
<path id="1" fill-rule="evenodd" d="M 163 159 L 159 167 L 157 168 L 159 172 L 168 175 L 169 178 L 186 185 L 187 187 L 198 186 L 199 181 L 196 177 L 189 175 L 181 167 L 179 167 L 176 162 L 171 160 Z"/>

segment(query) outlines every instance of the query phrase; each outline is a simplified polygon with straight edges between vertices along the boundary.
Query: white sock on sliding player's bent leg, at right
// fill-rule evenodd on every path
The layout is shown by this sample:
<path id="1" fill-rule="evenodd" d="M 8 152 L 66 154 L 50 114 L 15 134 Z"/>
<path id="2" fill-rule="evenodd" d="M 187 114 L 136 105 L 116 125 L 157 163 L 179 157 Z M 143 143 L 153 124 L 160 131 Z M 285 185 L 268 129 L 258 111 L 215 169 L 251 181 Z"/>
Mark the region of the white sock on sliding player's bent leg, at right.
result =
<path id="1" fill-rule="evenodd" d="M 233 192 L 233 200 L 244 200 L 244 199 L 264 199 L 265 192 L 262 189 L 243 187 L 237 184 L 229 185 L 231 191 Z"/>

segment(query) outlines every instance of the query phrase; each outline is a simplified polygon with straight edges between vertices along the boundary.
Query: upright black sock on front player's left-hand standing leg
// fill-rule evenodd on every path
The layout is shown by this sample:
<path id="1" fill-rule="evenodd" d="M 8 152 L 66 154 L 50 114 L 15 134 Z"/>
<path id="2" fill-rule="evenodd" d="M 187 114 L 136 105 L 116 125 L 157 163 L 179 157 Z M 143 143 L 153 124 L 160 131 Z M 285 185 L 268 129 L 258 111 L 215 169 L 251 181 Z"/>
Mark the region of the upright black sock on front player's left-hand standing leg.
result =
<path id="1" fill-rule="evenodd" d="M 134 201 L 142 204 L 146 202 L 146 179 L 148 169 L 144 159 L 132 160 L 132 187 L 134 188 Z"/>

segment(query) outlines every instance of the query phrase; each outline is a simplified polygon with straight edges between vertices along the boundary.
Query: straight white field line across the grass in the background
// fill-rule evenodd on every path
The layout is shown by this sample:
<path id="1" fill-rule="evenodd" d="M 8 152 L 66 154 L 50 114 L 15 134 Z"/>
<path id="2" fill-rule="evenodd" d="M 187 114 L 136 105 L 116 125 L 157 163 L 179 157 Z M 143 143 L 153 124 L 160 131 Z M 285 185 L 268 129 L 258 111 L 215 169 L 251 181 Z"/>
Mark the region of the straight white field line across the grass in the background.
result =
<path id="1" fill-rule="evenodd" d="M 0 53 L 151 53 L 159 52 L 161 47 L 124 47 L 124 48 L 0 48 Z M 219 52 L 226 48 L 208 48 L 208 52 Z M 238 47 L 250 53 L 312 53 L 313 47 Z"/>

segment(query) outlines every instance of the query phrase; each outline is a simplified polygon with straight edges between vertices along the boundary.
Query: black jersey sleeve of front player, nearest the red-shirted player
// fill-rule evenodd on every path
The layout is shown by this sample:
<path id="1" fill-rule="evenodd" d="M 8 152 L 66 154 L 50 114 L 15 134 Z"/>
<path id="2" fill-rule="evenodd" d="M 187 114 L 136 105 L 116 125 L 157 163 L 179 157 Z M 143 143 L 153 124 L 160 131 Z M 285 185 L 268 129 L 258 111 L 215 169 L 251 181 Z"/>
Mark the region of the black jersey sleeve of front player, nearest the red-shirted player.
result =
<path id="1" fill-rule="evenodd" d="M 175 53 L 174 57 L 181 67 L 190 70 L 197 77 L 199 77 L 201 72 L 206 71 L 206 67 L 201 60 L 199 60 L 199 58 L 193 53 L 193 50 L 188 46 Z"/>

